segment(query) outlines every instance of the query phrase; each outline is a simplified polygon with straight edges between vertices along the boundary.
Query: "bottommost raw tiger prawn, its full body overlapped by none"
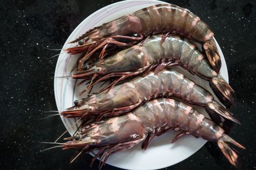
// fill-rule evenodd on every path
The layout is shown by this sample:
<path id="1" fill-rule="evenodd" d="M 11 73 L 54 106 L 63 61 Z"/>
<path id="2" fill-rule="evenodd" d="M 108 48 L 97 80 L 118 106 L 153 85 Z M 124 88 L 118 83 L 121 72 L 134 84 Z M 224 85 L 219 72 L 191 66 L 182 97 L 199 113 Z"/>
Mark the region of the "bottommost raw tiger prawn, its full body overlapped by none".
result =
<path id="1" fill-rule="evenodd" d="M 155 136 L 171 130 L 181 131 L 172 142 L 180 136 L 189 134 L 217 142 L 219 149 L 230 163 L 239 166 L 238 153 L 228 143 L 245 149 L 242 145 L 191 106 L 164 98 L 146 102 L 123 116 L 90 124 L 75 136 L 66 138 L 70 141 L 63 143 L 61 147 L 63 150 L 72 148 L 79 150 L 71 162 L 81 153 L 99 150 L 92 163 L 100 157 L 100 161 L 103 162 L 101 168 L 109 155 L 128 150 L 141 141 L 143 141 L 142 149 L 145 150 Z"/>

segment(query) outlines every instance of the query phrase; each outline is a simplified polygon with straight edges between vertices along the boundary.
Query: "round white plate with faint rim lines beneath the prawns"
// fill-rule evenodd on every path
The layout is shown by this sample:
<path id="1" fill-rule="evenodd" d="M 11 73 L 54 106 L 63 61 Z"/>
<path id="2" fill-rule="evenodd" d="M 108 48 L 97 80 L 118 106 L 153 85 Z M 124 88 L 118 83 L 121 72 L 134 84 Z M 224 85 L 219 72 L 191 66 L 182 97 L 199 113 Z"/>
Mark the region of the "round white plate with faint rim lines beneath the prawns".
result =
<path id="1" fill-rule="evenodd" d="M 104 8 L 101 8 L 89 17 L 85 18 L 79 24 L 79 26 L 68 37 L 67 41 L 63 46 L 63 49 L 74 46 L 74 44 L 68 44 L 68 42 L 76 39 L 90 28 L 109 22 L 126 14 L 131 14 L 138 9 L 152 6 L 158 3 L 166 2 L 158 0 L 126 0 L 113 3 Z M 228 81 L 228 72 L 225 59 L 218 44 L 217 47 L 218 51 L 220 52 L 222 61 L 222 67 L 220 70 L 222 73 L 221 75 L 226 79 L 226 81 Z M 79 55 L 71 56 L 70 54 L 65 53 L 65 51 L 61 51 L 55 70 L 55 77 L 70 74 L 72 68 L 74 68 L 76 64 L 78 56 Z M 203 87 L 212 92 L 208 82 L 201 80 L 196 76 L 192 76 L 187 71 L 184 71 L 179 67 L 176 67 L 175 69 L 180 70 L 186 76 L 192 78 L 199 85 L 202 85 Z M 84 86 L 81 85 L 77 87 L 76 83 L 76 80 L 72 78 L 54 79 L 55 99 L 59 111 L 63 111 L 65 110 L 65 108 L 72 106 L 74 100 L 82 98 L 78 94 L 79 91 L 84 88 Z M 205 113 L 204 109 L 198 107 L 197 109 L 198 111 Z M 61 119 L 67 129 L 71 127 L 74 122 L 76 122 L 76 119 L 65 119 L 63 117 L 61 117 Z M 69 130 L 70 135 L 74 134 L 76 128 L 77 126 Z M 196 153 L 197 150 L 199 150 L 206 143 L 206 141 L 203 139 L 196 139 L 193 136 L 183 136 L 178 139 L 174 144 L 171 144 L 171 140 L 173 139 L 175 134 L 175 132 L 170 132 L 162 136 L 156 137 L 152 140 L 149 148 L 146 151 L 141 150 L 140 143 L 128 151 L 115 153 L 114 155 L 111 155 L 109 157 L 106 163 L 118 168 L 129 170 L 156 170 L 177 164 L 178 162 L 189 157 L 190 155 Z"/>

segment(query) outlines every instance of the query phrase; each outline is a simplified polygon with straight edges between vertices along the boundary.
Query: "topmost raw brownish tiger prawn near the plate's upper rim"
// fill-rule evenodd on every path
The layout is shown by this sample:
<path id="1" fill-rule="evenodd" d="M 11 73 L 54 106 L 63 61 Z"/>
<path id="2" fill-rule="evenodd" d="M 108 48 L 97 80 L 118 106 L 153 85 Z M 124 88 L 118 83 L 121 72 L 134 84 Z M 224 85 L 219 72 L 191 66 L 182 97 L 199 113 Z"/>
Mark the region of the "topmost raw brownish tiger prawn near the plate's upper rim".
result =
<path id="1" fill-rule="evenodd" d="M 99 58 L 103 58 L 106 53 L 131 47 L 143 39 L 145 41 L 151 35 L 160 33 L 164 34 L 162 41 L 169 34 L 176 33 L 202 44 L 202 49 L 212 68 L 219 72 L 221 61 L 213 39 L 214 33 L 195 14 L 172 4 L 158 4 L 143 8 L 133 14 L 95 27 L 70 42 L 79 42 L 79 45 L 66 51 L 71 54 L 86 53 L 79 60 L 79 71 L 81 71 L 82 62 L 95 58 L 97 55 L 94 54 L 98 50 L 101 50 Z"/>

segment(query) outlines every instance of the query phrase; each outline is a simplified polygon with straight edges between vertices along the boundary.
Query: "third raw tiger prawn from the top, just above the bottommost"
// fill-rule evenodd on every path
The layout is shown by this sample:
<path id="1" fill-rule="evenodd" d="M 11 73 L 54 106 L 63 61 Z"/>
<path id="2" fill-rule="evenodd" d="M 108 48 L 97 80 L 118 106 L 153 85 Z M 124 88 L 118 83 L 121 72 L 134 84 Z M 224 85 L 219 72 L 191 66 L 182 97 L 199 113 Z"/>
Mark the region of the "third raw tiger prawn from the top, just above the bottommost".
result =
<path id="1" fill-rule="evenodd" d="M 197 85 L 183 74 L 172 69 L 161 69 L 157 74 L 150 71 L 147 75 L 106 89 L 100 93 L 89 95 L 74 106 L 61 112 L 66 118 L 81 117 L 94 119 L 118 116 L 157 97 L 177 97 L 183 101 L 205 107 L 209 115 L 220 115 L 236 123 L 240 123 L 206 89 Z"/>

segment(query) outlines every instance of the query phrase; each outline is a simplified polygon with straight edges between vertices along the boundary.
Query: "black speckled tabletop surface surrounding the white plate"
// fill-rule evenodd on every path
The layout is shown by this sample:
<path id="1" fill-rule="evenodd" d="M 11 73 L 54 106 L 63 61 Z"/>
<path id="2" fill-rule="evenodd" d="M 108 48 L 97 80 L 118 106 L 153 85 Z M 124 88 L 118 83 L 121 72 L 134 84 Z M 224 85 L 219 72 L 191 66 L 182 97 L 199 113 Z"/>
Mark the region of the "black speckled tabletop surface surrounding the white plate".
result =
<path id="1" fill-rule="evenodd" d="M 97 170 L 86 154 L 69 164 L 73 151 L 39 150 L 51 145 L 65 128 L 59 117 L 39 120 L 57 110 L 54 75 L 60 49 L 77 25 L 94 11 L 118 0 L 5 0 L 0 2 L 0 169 Z M 231 136 L 246 146 L 244 170 L 256 170 L 256 1 L 165 0 L 188 8 L 215 33 L 224 53 L 242 125 Z M 170 139 L 171 141 L 171 139 Z M 240 150 L 239 150 L 240 151 Z M 232 170 L 213 143 L 167 170 Z M 103 170 L 120 170 L 106 165 Z"/>

